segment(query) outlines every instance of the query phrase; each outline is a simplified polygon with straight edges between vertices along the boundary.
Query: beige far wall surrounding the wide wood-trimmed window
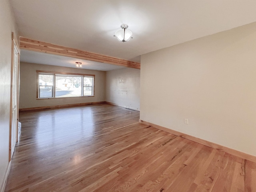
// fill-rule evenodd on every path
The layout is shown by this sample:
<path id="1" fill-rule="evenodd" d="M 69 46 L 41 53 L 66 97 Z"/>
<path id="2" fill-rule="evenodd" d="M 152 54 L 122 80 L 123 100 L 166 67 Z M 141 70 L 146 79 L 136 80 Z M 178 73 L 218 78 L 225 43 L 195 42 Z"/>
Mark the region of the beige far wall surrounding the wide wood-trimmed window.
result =
<path id="1" fill-rule="evenodd" d="M 36 99 L 36 70 L 94 74 L 93 97 Z M 20 63 L 20 109 L 105 101 L 106 72 L 43 64 Z"/>

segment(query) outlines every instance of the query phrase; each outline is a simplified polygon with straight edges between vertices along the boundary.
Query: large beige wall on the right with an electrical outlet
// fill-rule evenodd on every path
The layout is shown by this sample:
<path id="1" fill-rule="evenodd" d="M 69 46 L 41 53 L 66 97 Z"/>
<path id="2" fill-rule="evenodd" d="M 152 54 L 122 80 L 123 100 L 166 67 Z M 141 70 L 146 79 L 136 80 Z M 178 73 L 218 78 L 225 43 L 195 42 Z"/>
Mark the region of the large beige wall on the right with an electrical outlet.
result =
<path id="1" fill-rule="evenodd" d="M 256 23 L 144 54 L 140 78 L 141 120 L 256 156 Z"/>

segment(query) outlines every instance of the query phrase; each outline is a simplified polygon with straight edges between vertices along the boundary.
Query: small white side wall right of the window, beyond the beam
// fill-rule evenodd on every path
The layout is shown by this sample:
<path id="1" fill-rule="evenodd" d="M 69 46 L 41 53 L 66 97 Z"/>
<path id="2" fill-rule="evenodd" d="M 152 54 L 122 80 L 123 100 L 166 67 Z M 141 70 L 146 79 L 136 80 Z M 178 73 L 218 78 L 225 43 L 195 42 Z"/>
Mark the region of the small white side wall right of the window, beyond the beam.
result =
<path id="1" fill-rule="evenodd" d="M 106 101 L 140 110 L 140 70 L 124 68 L 106 73 Z"/>

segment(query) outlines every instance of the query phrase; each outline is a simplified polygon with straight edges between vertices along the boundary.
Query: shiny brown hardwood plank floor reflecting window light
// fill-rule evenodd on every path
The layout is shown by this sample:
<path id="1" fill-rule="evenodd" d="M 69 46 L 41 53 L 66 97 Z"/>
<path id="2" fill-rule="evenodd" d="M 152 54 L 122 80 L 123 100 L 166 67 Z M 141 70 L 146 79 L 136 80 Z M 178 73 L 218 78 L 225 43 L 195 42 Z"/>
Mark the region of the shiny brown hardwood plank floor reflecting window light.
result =
<path id="1" fill-rule="evenodd" d="M 256 192 L 256 164 L 110 104 L 20 113 L 6 192 Z"/>

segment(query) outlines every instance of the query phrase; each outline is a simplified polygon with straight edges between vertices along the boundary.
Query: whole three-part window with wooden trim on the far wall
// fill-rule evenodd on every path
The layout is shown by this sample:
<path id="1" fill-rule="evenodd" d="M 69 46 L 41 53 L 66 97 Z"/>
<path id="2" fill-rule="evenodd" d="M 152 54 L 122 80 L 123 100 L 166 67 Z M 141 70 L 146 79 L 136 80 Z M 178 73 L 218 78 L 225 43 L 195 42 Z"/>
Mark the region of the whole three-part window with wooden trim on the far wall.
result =
<path id="1" fill-rule="evenodd" d="M 36 71 L 37 98 L 94 96 L 94 75 Z"/>

